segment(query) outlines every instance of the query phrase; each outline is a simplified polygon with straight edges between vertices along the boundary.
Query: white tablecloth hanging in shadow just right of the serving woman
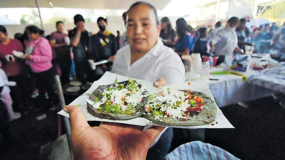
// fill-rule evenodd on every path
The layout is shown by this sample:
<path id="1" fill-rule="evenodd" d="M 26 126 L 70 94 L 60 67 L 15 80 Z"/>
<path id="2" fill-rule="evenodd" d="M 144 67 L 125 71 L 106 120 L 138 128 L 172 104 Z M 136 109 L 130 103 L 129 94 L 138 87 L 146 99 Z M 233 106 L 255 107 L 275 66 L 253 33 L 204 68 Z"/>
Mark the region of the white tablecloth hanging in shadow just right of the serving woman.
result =
<path id="1" fill-rule="evenodd" d="M 243 74 L 250 76 L 247 73 Z M 238 75 L 211 75 L 210 79 L 219 79 L 209 81 L 211 93 L 219 107 L 267 97 L 274 93 L 270 89 L 249 84 Z"/>

